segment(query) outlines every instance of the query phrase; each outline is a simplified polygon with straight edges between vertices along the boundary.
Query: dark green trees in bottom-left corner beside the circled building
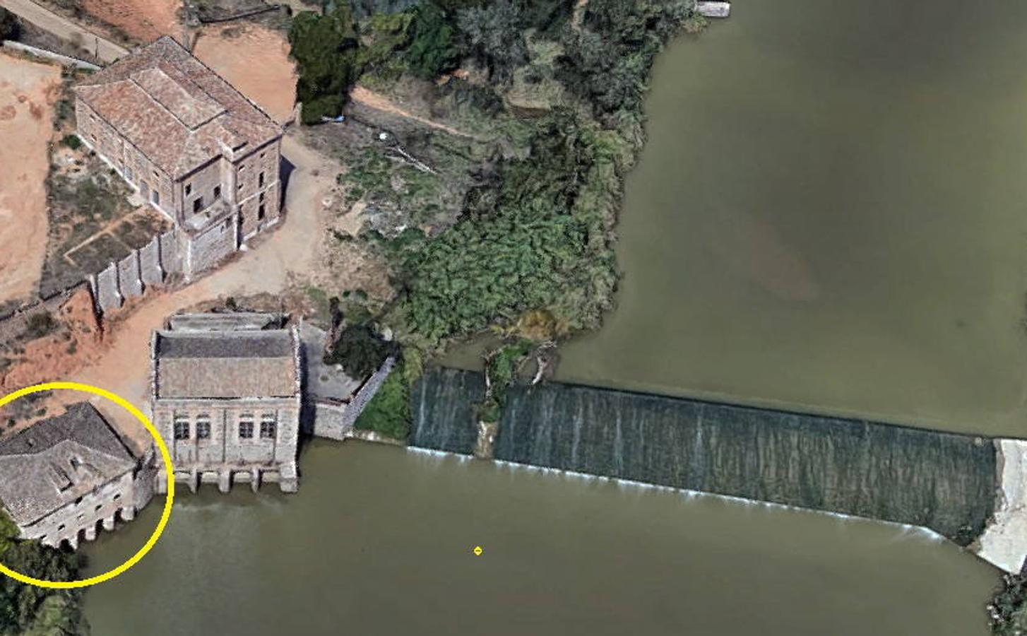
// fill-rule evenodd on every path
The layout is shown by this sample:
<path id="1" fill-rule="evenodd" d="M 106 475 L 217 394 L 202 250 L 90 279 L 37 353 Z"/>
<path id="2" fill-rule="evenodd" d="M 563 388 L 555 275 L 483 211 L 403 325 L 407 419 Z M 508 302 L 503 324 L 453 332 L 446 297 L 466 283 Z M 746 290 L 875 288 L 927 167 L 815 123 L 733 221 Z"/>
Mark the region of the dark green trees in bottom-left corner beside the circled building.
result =
<path id="1" fill-rule="evenodd" d="M 17 526 L 0 511 L 0 560 L 7 567 L 47 581 L 78 578 L 78 557 L 38 541 L 14 540 Z M 89 633 L 78 591 L 46 590 L 0 579 L 0 636 L 80 636 Z"/>

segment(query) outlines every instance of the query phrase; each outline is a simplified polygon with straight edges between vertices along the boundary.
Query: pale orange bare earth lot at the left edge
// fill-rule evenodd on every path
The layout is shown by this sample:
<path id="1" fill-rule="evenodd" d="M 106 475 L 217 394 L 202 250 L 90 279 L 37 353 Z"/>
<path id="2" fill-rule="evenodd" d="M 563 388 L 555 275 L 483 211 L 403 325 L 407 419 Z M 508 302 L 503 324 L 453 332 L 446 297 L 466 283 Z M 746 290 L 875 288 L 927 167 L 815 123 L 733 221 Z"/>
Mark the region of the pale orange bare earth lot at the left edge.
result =
<path id="1" fill-rule="evenodd" d="M 0 53 L 0 303 L 31 296 L 46 252 L 56 67 Z"/>

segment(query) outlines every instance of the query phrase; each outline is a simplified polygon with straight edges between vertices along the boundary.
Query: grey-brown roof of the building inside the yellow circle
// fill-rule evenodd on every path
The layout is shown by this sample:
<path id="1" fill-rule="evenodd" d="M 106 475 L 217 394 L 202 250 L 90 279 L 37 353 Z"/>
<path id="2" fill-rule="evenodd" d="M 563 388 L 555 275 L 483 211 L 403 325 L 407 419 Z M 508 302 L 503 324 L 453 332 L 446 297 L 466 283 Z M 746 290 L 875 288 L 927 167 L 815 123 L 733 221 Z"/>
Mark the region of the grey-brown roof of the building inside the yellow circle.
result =
<path id="1" fill-rule="evenodd" d="M 124 475 L 136 458 L 87 402 L 0 440 L 0 500 L 29 525 Z"/>

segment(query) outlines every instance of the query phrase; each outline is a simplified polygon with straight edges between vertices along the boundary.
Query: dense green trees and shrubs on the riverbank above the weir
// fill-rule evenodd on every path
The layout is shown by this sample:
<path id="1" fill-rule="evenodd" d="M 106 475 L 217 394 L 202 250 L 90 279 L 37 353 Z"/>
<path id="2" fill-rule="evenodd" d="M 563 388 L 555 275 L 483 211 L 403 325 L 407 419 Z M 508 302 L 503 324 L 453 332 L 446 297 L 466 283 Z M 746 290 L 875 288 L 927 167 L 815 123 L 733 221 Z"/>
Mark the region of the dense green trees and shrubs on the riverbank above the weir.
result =
<path id="1" fill-rule="evenodd" d="M 529 314 L 551 332 L 529 341 L 598 327 L 653 58 L 702 24 L 690 0 L 363 0 L 299 14 L 290 41 L 304 121 L 339 114 L 360 81 L 414 87 L 433 117 L 467 132 L 401 132 L 347 157 L 348 202 L 394 213 L 368 236 L 397 290 L 375 320 L 417 351 L 489 328 L 512 334 Z M 376 407 L 364 423 L 390 412 Z"/>

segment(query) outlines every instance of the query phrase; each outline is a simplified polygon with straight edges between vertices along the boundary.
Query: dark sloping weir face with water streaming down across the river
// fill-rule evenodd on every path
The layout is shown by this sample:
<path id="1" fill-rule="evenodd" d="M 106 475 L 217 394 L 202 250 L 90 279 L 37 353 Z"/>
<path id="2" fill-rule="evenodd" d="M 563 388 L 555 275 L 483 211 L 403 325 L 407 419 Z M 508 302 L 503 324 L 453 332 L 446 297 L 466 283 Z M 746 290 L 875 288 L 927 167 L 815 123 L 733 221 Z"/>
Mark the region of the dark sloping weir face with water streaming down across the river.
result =
<path id="1" fill-rule="evenodd" d="M 412 444 L 469 454 L 483 388 L 479 373 L 427 372 Z M 495 456 L 923 526 L 963 546 L 996 487 L 981 437 L 560 383 L 510 391 Z"/>

